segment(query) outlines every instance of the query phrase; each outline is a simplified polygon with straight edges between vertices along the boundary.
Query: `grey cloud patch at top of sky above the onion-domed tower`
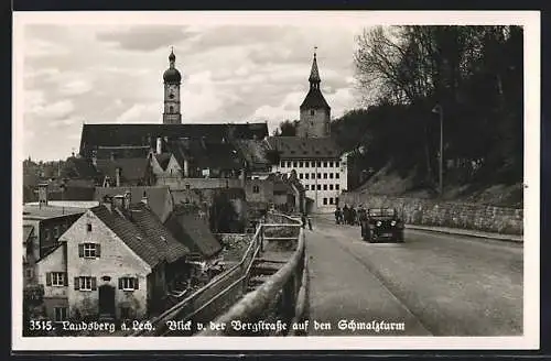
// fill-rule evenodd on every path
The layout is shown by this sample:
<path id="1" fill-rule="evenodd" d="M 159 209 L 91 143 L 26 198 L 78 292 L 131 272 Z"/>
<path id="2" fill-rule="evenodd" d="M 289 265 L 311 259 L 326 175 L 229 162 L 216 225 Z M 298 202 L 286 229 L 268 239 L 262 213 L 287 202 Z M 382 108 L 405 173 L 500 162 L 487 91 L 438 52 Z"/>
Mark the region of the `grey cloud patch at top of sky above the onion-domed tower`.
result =
<path id="1" fill-rule="evenodd" d="M 100 42 L 114 43 L 127 51 L 147 52 L 180 43 L 194 35 L 186 26 L 156 25 L 106 31 L 96 34 L 96 37 Z"/>

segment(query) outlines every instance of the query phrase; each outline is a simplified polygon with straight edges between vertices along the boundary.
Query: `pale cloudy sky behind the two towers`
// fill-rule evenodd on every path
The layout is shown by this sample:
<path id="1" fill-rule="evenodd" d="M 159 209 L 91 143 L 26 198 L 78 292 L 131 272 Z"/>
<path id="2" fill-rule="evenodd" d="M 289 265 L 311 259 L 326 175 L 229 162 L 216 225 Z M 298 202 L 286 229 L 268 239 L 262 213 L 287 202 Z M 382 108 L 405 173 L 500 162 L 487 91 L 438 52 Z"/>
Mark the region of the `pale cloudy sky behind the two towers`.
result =
<path id="1" fill-rule="evenodd" d="M 83 123 L 159 123 L 174 46 L 183 122 L 299 118 L 314 46 L 332 117 L 357 107 L 353 53 L 361 24 L 28 24 L 23 156 L 65 158 Z"/>

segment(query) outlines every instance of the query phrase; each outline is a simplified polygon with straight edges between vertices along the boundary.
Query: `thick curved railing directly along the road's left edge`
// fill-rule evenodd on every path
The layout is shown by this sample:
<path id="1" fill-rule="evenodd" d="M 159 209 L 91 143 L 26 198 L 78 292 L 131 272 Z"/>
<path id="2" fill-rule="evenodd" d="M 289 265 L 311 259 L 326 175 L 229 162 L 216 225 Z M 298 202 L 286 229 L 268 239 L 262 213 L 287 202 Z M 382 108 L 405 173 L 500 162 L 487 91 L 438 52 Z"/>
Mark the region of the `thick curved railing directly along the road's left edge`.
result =
<path id="1" fill-rule="evenodd" d="M 216 318 L 214 324 L 218 328 L 205 329 L 197 336 L 306 335 L 309 270 L 305 233 L 302 222 L 285 226 L 300 230 L 298 247 L 290 260 L 259 288 Z"/>

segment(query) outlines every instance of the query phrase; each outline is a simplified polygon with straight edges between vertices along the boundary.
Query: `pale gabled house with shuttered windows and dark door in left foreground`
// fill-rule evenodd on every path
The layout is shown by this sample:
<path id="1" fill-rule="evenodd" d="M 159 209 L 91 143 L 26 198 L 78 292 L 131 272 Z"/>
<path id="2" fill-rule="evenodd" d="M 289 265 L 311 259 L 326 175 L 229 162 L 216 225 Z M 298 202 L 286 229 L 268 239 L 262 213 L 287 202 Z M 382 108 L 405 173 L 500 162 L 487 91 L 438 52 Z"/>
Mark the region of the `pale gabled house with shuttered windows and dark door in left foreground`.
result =
<path id="1" fill-rule="evenodd" d="M 143 319 L 188 273 L 188 249 L 151 209 L 125 196 L 106 197 L 73 223 L 37 263 L 52 319 Z"/>

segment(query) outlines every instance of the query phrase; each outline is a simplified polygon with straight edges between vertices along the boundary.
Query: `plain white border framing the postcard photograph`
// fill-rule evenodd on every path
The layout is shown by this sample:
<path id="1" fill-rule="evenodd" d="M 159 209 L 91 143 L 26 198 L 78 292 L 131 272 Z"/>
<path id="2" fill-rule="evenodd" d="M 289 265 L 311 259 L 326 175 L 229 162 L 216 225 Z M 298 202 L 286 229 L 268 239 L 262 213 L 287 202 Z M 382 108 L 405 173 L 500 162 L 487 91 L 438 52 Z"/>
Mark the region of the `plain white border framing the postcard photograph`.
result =
<path id="1" fill-rule="evenodd" d="M 525 26 L 525 273 L 522 337 L 23 338 L 23 32 L 26 24 L 518 24 Z M 338 24 L 338 25 L 337 25 Z M 540 332 L 540 13 L 538 11 L 15 12 L 13 14 L 12 349 L 40 350 L 515 350 L 538 349 Z M 98 347 L 99 346 L 99 347 Z"/>

